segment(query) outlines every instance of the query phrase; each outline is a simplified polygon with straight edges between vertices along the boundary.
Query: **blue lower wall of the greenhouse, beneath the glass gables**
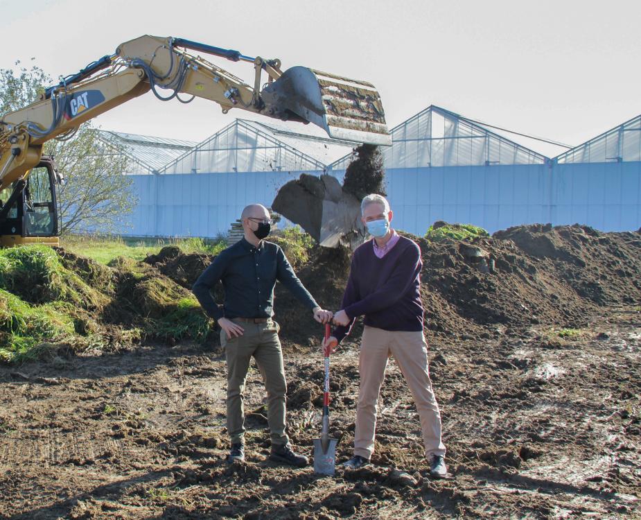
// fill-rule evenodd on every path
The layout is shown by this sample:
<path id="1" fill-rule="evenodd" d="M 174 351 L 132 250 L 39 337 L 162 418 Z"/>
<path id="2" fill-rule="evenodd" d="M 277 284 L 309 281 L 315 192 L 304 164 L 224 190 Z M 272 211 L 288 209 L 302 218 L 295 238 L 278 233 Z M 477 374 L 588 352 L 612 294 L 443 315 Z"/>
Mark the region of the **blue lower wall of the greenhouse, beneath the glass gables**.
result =
<path id="1" fill-rule="evenodd" d="M 128 233 L 214 237 L 250 202 L 270 206 L 279 187 L 300 173 L 132 175 L 140 202 Z M 414 234 L 435 220 L 491 233 L 527 223 L 641 227 L 641 162 L 391 168 L 387 191 L 394 227 Z"/>

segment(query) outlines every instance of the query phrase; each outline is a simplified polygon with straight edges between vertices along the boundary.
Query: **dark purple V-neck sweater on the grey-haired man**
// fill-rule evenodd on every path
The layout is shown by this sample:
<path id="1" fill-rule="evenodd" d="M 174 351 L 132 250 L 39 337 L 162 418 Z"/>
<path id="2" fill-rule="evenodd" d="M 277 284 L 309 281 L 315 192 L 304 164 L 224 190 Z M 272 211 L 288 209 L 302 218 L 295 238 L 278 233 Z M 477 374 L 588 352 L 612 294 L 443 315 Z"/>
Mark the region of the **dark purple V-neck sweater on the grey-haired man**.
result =
<path id="1" fill-rule="evenodd" d="M 422 331 L 421 249 L 404 236 L 385 257 L 374 254 L 374 239 L 360 245 L 351 261 L 341 308 L 351 321 L 336 327 L 339 342 L 349 334 L 355 318 L 386 331 Z"/>

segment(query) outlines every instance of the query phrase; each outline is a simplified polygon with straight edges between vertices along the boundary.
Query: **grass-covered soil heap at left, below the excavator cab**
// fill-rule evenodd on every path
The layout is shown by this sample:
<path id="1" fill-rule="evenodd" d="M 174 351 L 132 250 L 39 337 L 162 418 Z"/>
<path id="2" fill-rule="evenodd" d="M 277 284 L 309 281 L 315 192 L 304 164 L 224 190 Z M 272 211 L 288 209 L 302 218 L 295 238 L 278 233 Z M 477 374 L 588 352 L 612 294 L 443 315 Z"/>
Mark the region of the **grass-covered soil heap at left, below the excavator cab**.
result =
<path id="1" fill-rule="evenodd" d="M 141 340 L 204 340 L 193 295 L 146 263 L 109 266 L 42 245 L 0 254 L 0 360 L 60 347 L 113 350 Z"/>

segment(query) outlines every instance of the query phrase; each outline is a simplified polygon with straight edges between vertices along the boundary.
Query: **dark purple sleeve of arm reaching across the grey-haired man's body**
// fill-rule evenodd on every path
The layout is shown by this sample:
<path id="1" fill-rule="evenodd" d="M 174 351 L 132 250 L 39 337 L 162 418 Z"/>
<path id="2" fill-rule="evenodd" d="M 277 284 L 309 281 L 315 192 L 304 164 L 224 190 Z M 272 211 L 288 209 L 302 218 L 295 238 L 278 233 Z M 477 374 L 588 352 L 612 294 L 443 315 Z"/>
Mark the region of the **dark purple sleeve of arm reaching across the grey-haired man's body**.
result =
<path id="1" fill-rule="evenodd" d="M 374 293 L 343 309 L 350 318 L 387 309 L 401 299 L 420 272 L 421 250 L 414 244 L 414 247 L 407 248 L 407 251 L 399 257 L 396 268 L 385 284 Z"/>

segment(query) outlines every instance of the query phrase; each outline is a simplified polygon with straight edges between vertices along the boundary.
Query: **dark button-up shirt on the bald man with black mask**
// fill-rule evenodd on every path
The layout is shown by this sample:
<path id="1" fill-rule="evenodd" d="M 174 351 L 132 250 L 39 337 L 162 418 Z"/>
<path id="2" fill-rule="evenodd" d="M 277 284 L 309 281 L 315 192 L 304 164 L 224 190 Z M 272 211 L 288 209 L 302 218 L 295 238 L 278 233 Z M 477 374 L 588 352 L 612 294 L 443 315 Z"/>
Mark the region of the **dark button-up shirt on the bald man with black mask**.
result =
<path id="1" fill-rule="evenodd" d="M 211 296 L 218 280 L 225 288 L 222 308 Z M 318 306 L 295 275 L 283 250 L 261 241 L 258 248 L 240 239 L 223 250 L 193 284 L 192 291 L 211 318 L 271 318 L 276 280 L 310 309 Z"/>

